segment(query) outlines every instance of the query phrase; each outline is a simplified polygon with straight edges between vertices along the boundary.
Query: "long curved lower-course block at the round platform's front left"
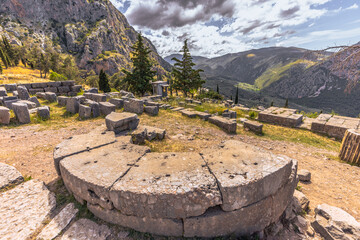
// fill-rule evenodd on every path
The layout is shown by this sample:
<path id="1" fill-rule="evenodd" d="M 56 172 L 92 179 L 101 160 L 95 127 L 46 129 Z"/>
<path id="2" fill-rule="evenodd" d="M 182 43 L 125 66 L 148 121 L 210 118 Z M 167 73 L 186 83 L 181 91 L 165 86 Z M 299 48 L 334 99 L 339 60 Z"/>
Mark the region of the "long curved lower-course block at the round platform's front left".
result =
<path id="1" fill-rule="evenodd" d="M 160 236 L 182 236 L 183 224 L 178 219 L 136 217 L 121 214 L 116 209 L 103 209 L 88 203 L 88 209 L 98 218 L 107 222 Z"/>

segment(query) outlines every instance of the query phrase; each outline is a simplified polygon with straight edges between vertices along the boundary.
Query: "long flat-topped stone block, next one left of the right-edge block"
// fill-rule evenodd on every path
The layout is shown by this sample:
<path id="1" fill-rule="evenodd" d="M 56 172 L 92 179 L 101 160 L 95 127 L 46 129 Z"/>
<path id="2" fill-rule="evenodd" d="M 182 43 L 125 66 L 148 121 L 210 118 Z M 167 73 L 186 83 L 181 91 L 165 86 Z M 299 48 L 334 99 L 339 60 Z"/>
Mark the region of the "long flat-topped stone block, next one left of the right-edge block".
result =
<path id="1" fill-rule="evenodd" d="M 302 123 L 303 115 L 295 109 L 270 107 L 259 113 L 258 120 L 284 127 L 297 127 Z"/>

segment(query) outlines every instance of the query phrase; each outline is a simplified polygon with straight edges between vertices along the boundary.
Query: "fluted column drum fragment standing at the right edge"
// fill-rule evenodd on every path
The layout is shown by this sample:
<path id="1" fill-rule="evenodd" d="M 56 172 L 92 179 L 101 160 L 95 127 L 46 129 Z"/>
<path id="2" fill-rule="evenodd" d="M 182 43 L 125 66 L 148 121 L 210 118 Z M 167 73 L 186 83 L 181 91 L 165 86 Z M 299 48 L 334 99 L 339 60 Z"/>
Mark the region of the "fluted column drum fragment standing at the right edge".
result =
<path id="1" fill-rule="evenodd" d="M 340 159 L 360 166 L 360 131 L 348 129 L 341 144 Z"/>

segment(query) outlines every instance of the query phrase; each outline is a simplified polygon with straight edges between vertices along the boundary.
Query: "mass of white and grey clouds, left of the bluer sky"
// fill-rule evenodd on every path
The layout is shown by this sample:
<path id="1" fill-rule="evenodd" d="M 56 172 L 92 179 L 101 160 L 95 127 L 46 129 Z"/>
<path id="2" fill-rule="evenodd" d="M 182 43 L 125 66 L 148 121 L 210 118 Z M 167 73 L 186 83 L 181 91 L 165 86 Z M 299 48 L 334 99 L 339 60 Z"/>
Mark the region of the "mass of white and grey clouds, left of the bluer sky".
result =
<path id="1" fill-rule="evenodd" d="M 117 6 L 125 3 L 111 1 Z M 132 0 L 125 16 L 137 30 L 151 33 L 145 35 L 163 56 L 177 53 L 188 38 L 193 55 L 213 57 L 256 48 L 269 41 L 295 41 L 291 29 L 309 21 L 312 26 L 328 12 L 322 5 L 329 1 Z M 349 8 L 354 9 L 355 5 Z M 307 41 L 297 38 L 299 42 Z"/>

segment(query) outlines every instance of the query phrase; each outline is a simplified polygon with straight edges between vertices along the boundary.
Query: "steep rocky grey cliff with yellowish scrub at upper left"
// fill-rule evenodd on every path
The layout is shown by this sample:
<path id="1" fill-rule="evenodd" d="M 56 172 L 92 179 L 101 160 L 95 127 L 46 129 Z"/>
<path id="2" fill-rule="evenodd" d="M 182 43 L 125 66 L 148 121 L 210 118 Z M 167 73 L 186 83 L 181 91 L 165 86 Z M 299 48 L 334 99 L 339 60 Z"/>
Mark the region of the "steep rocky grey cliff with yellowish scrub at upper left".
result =
<path id="1" fill-rule="evenodd" d="M 137 32 L 108 0 L 0 0 L 0 24 L 11 38 L 60 45 L 79 67 L 114 74 L 131 67 Z M 160 74 L 170 65 L 152 50 Z"/>

